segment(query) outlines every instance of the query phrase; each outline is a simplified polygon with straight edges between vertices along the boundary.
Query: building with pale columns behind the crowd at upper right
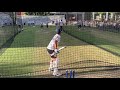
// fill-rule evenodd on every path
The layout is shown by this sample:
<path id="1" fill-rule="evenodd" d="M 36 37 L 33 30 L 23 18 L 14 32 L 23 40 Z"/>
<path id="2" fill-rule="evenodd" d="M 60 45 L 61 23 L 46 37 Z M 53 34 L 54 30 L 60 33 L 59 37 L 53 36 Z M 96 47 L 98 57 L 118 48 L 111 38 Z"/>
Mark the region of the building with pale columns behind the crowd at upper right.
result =
<path id="1" fill-rule="evenodd" d="M 69 20 L 98 20 L 98 21 L 119 21 L 119 12 L 50 12 L 52 15 L 65 15 Z"/>

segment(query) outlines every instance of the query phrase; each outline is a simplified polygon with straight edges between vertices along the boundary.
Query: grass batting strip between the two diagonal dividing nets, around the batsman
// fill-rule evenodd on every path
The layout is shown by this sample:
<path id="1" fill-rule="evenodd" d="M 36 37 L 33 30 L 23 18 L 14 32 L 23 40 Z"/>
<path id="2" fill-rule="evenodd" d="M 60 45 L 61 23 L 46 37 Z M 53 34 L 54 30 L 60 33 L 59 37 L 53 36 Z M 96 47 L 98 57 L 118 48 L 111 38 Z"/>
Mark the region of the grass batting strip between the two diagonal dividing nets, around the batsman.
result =
<path id="1" fill-rule="evenodd" d="M 72 33 L 83 35 L 78 32 L 76 33 L 75 27 L 69 28 L 72 28 Z M 89 33 L 83 33 L 85 39 L 91 37 Z M 52 26 L 43 30 L 41 30 L 40 26 L 25 27 L 24 31 L 15 37 L 11 46 L 6 48 L 5 52 L 0 55 L 0 76 L 33 73 L 33 75 L 28 75 L 28 77 L 33 77 L 37 76 L 36 74 L 34 75 L 35 72 L 40 72 L 39 75 L 50 74 L 48 72 L 50 57 L 46 47 L 54 35 L 55 27 Z M 67 48 L 58 55 L 60 58 L 60 68 L 105 66 L 111 63 L 115 65 L 120 64 L 120 58 L 109 52 L 76 39 L 64 32 L 61 36 L 59 47 L 67 46 Z M 99 61 L 103 63 L 99 63 Z M 85 70 L 89 71 L 89 69 L 80 69 L 80 71 Z"/>

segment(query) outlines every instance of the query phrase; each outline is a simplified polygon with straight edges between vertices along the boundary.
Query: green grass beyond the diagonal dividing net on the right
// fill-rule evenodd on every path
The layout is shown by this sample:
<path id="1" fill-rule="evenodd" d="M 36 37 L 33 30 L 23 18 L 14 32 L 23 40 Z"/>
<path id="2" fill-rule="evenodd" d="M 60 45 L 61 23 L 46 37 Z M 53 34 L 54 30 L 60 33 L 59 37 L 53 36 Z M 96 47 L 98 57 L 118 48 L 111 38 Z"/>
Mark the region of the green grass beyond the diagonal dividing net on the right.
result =
<path id="1" fill-rule="evenodd" d="M 99 46 L 110 52 L 120 55 L 120 33 L 113 33 L 108 31 L 100 31 L 95 29 L 81 29 L 78 30 L 77 27 L 65 27 L 65 31 L 72 36 L 79 38 L 90 44 Z"/>

